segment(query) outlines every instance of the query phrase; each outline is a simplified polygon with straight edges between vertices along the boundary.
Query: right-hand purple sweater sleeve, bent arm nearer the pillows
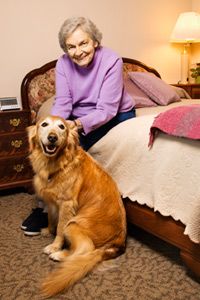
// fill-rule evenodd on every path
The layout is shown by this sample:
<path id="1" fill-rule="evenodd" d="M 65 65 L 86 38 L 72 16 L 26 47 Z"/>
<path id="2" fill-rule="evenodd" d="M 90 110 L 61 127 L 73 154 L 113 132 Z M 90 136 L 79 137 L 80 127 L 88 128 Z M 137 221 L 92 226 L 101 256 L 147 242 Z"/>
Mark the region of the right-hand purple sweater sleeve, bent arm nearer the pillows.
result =
<path id="1" fill-rule="evenodd" d="M 99 98 L 97 99 L 96 109 L 79 118 L 85 134 L 104 125 L 116 116 L 123 93 L 122 67 L 122 59 L 119 58 L 105 75 Z"/>

